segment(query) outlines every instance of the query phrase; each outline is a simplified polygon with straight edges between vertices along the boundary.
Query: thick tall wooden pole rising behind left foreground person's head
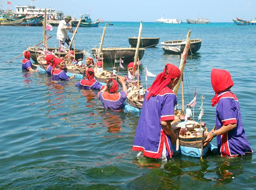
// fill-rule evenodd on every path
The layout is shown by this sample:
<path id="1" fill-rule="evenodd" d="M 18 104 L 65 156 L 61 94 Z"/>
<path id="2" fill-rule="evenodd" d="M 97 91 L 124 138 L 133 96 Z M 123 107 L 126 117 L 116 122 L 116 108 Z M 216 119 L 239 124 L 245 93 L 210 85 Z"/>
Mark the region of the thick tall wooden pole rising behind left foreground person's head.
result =
<path id="1" fill-rule="evenodd" d="M 186 64 L 186 59 L 187 59 L 187 54 L 188 54 L 188 50 L 189 50 L 189 46 L 190 46 L 190 42 L 191 40 L 189 39 L 191 34 L 191 30 L 188 31 L 187 33 L 187 38 L 186 38 L 186 45 L 185 48 L 183 50 L 182 56 L 181 56 L 181 60 L 180 60 L 180 72 L 181 72 L 181 77 L 179 79 L 178 84 L 174 87 L 174 93 L 177 95 L 179 88 L 180 88 L 180 83 L 181 83 L 181 78 L 183 76 L 183 71 L 184 71 L 184 67 Z"/>

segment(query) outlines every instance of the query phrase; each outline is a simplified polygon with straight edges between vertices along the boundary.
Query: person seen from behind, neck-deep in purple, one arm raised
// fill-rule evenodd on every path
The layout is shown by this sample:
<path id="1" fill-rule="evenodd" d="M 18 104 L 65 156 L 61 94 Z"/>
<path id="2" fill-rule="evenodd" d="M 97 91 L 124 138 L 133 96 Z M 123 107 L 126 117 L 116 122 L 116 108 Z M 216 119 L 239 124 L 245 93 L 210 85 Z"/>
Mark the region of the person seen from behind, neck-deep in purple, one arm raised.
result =
<path id="1" fill-rule="evenodd" d="M 119 81 L 123 86 L 122 91 L 117 92 L 118 84 L 113 78 L 111 78 L 106 86 L 98 92 L 97 98 L 101 100 L 105 108 L 109 108 L 111 110 L 121 110 L 124 108 L 124 101 L 127 97 L 127 87 L 122 77 L 119 77 Z M 106 90 L 109 92 L 106 92 Z"/>

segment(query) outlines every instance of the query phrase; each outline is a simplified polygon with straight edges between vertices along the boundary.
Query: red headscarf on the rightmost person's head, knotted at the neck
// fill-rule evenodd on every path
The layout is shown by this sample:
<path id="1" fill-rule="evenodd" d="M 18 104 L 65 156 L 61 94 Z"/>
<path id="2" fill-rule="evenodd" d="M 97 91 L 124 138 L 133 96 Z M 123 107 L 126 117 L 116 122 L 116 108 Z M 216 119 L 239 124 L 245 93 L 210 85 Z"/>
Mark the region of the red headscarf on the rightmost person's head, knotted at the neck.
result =
<path id="1" fill-rule="evenodd" d="M 215 96 L 211 99 L 211 105 L 213 107 L 218 102 L 218 94 L 229 90 L 234 83 L 230 73 L 226 70 L 212 69 L 210 78 L 212 89 L 215 91 Z"/>

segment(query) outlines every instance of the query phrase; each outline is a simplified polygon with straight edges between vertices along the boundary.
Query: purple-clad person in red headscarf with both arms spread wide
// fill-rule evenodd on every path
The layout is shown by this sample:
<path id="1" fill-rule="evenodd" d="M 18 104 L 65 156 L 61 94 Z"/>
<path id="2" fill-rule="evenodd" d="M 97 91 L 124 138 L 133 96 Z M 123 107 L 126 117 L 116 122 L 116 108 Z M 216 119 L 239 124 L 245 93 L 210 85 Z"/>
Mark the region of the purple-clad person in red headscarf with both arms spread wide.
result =
<path id="1" fill-rule="evenodd" d="M 89 89 L 96 89 L 102 90 L 105 86 L 101 85 L 95 78 L 94 78 L 94 70 L 89 68 L 86 71 L 86 78 L 81 79 L 76 86 L 80 87 L 81 89 L 89 90 Z"/>

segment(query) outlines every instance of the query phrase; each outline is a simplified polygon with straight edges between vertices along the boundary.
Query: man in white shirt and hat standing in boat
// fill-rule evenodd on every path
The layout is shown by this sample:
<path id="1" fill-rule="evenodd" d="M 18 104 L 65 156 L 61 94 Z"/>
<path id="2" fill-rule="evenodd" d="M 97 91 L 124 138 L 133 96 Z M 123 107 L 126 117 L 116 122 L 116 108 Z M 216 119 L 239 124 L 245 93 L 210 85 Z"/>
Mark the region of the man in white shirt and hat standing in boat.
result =
<path id="1" fill-rule="evenodd" d="M 68 36 L 68 31 L 74 33 L 73 27 L 70 25 L 71 16 L 68 14 L 64 17 L 64 20 L 61 20 L 57 29 L 57 39 L 59 42 L 59 52 L 63 52 L 62 48 L 65 45 L 65 42 L 70 45 L 70 38 Z M 72 49 L 72 48 L 71 48 Z"/>

